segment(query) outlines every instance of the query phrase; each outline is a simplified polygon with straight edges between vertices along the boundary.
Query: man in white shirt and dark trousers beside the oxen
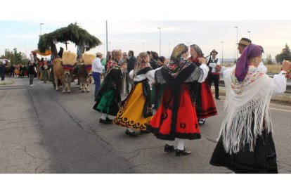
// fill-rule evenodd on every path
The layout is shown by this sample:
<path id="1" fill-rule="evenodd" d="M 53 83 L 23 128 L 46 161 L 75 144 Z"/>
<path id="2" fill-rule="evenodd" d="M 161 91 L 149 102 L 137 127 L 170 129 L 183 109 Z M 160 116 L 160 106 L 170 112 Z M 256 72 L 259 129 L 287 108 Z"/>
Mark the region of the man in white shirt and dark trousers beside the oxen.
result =
<path id="1" fill-rule="evenodd" d="M 92 62 L 92 77 L 94 79 L 95 84 L 94 98 L 96 98 L 98 89 L 101 85 L 101 74 L 103 72 L 103 66 L 101 64 L 102 56 L 103 56 L 102 53 L 100 52 L 96 53 L 96 58 Z"/>

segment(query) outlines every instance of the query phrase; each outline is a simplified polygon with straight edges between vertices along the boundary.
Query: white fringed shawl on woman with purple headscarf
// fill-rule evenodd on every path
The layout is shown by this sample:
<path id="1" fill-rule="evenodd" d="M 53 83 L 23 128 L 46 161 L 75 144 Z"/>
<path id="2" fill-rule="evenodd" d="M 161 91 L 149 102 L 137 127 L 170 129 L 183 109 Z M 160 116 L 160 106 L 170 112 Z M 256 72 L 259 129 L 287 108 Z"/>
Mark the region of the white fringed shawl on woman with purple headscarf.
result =
<path id="1" fill-rule="evenodd" d="M 250 70 L 243 82 L 238 82 L 234 70 L 224 75 L 226 118 L 221 125 L 226 153 L 238 153 L 246 143 L 254 150 L 256 140 L 264 129 L 272 130 L 269 104 L 273 93 L 271 79 L 256 67 Z M 253 125 L 253 126 L 252 126 Z"/>

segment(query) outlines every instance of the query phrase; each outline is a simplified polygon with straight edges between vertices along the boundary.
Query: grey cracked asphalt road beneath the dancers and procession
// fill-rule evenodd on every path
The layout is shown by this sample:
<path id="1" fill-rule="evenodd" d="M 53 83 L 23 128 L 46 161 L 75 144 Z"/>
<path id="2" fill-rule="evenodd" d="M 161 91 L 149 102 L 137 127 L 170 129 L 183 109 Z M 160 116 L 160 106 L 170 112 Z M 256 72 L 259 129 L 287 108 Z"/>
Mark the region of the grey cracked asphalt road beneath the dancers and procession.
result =
<path id="1" fill-rule="evenodd" d="M 55 91 L 50 82 L 13 79 L 0 86 L 0 173 L 232 173 L 212 167 L 209 159 L 224 119 L 219 115 L 200 127 L 202 138 L 186 141 L 192 154 L 164 153 L 164 143 L 153 134 L 131 138 L 115 124 L 98 122 L 91 93 Z M 123 96 L 125 98 L 125 96 Z M 223 99 L 222 99 L 223 100 Z M 291 172 L 291 108 L 271 105 L 279 173 Z"/>

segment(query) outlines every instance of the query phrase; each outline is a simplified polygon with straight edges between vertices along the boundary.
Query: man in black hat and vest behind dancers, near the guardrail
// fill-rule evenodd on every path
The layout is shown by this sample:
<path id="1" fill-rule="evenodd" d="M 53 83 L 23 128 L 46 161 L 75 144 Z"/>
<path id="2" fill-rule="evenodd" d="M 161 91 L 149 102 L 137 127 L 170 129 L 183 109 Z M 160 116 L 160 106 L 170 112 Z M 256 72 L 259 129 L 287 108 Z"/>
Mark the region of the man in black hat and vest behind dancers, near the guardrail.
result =
<path id="1" fill-rule="evenodd" d="M 220 100 L 219 98 L 219 71 L 220 71 L 220 60 L 219 58 L 216 58 L 216 55 L 218 54 L 217 51 L 212 50 L 210 53 L 209 60 L 207 62 L 207 66 L 209 67 L 209 74 L 207 77 L 207 83 L 209 84 L 209 87 L 211 88 L 212 82 L 214 82 L 215 87 L 215 98 L 216 100 Z"/>

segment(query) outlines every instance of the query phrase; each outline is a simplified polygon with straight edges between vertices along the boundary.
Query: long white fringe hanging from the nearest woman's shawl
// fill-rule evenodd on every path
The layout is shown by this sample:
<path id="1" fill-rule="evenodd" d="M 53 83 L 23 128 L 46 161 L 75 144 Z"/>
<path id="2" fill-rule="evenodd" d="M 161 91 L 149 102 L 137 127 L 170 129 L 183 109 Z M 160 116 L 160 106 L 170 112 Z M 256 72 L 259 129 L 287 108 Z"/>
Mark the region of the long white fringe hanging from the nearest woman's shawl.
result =
<path id="1" fill-rule="evenodd" d="M 229 93 L 224 102 L 227 112 L 221 125 L 219 137 L 222 136 L 226 153 L 238 153 L 245 144 L 254 151 L 257 137 L 266 129 L 272 131 L 271 115 L 269 110 L 273 87 L 266 84 L 247 103 L 235 106 L 231 104 Z M 273 131 L 272 131 L 273 132 Z M 218 138 L 219 139 L 219 138 Z M 217 139 L 217 140 L 218 140 Z"/>

